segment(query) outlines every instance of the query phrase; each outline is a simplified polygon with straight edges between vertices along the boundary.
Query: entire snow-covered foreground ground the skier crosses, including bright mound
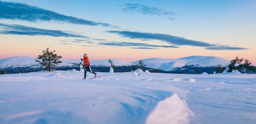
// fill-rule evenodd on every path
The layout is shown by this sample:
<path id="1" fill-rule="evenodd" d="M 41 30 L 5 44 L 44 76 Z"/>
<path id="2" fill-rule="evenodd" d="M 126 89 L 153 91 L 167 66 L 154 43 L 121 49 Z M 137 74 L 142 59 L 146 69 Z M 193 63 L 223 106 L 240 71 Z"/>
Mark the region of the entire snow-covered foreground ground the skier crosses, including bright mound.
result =
<path id="1" fill-rule="evenodd" d="M 0 75 L 0 124 L 256 123 L 256 74 L 138 73 Z"/>

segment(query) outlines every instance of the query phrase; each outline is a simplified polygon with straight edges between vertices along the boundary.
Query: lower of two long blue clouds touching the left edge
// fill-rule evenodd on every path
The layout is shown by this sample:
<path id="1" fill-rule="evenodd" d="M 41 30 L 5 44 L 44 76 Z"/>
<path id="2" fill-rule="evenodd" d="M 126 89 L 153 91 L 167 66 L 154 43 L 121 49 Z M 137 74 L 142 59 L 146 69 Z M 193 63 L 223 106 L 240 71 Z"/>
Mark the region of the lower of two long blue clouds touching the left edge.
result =
<path id="1" fill-rule="evenodd" d="M 16 24 L 2 24 L 0 23 L 0 34 L 12 34 L 12 35 L 48 35 L 53 37 L 83 37 L 86 36 L 78 35 L 70 31 L 60 30 L 46 30 L 40 28 L 33 28 L 28 26 L 16 25 Z"/>

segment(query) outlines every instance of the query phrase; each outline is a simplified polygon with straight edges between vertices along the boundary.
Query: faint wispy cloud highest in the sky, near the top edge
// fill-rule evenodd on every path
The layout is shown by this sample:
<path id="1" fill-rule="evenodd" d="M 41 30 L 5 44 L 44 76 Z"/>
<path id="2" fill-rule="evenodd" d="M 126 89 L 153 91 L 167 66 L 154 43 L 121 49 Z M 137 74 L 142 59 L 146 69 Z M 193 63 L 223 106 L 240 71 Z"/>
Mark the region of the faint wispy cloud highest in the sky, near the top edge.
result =
<path id="1" fill-rule="evenodd" d="M 165 16 L 169 20 L 174 20 L 174 15 L 176 15 L 176 13 L 173 11 L 166 11 L 160 8 L 145 6 L 141 4 L 125 4 L 122 8 L 122 11 L 130 13 L 141 13 L 144 15 Z"/>

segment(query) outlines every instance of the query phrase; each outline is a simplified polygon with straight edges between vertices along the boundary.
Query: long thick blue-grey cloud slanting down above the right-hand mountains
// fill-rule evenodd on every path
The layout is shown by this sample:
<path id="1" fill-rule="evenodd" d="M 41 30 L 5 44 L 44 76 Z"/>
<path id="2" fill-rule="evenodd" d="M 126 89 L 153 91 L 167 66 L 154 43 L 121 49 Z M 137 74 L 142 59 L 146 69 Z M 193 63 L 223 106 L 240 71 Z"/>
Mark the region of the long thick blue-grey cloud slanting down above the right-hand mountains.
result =
<path id="1" fill-rule="evenodd" d="M 241 47 L 232 47 L 229 45 L 217 45 L 217 44 L 210 44 L 203 41 L 195 41 L 185 39 L 183 37 L 177 37 L 173 35 L 167 35 L 162 33 L 143 33 L 143 32 L 133 32 L 133 31 L 108 31 L 109 33 L 116 33 L 121 35 L 122 37 L 128 37 L 130 39 L 154 39 L 160 40 L 163 42 L 167 42 L 169 44 L 182 46 L 182 45 L 189 45 L 189 46 L 199 46 L 205 47 L 206 49 L 210 50 L 246 50 L 247 48 Z"/>

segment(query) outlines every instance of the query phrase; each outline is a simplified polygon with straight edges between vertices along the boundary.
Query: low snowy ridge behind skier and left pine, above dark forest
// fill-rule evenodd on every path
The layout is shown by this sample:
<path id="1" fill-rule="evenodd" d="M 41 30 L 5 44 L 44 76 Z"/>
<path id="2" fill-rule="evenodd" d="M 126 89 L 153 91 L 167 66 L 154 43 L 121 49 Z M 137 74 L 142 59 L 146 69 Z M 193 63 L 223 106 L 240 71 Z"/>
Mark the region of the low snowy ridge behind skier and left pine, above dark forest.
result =
<path id="1" fill-rule="evenodd" d="M 35 62 L 35 57 L 30 57 L 30 56 L 15 56 L 15 57 L 9 57 L 6 59 L 0 59 L 0 67 L 24 67 L 24 66 L 33 66 L 37 65 Z M 129 66 L 129 65 L 134 65 L 133 63 L 120 60 L 120 59 L 110 59 L 113 61 L 114 65 L 116 66 Z M 72 63 L 80 63 L 81 60 L 79 59 L 71 59 L 71 60 L 61 60 L 63 63 L 60 64 L 60 66 L 69 66 L 73 65 Z M 109 67 L 110 64 L 108 62 L 108 59 L 106 60 L 90 60 L 90 63 L 92 66 L 107 66 Z"/>

